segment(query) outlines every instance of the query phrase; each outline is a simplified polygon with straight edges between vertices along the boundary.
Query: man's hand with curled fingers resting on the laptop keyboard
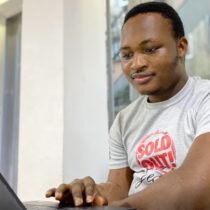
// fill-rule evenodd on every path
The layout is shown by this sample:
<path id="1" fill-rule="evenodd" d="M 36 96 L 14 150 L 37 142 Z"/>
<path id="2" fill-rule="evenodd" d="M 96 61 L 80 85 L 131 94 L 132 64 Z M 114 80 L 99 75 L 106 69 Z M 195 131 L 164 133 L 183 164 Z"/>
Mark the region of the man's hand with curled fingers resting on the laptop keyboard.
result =
<path id="1" fill-rule="evenodd" d="M 74 206 L 107 204 L 107 199 L 100 194 L 97 184 L 91 177 L 75 179 L 70 184 L 61 184 L 57 188 L 49 189 L 45 196 L 55 197 L 61 203 Z"/>

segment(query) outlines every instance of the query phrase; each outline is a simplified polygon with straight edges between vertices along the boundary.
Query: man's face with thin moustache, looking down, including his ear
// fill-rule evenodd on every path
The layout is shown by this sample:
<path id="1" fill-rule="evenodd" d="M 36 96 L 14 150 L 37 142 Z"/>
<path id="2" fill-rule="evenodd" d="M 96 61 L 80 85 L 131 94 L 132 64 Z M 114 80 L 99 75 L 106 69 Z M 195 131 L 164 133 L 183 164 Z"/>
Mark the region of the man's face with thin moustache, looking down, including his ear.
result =
<path id="1" fill-rule="evenodd" d="M 186 39 L 175 40 L 170 20 L 158 13 L 136 15 L 123 26 L 123 72 L 151 102 L 166 100 L 183 87 L 186 51 Z"/>

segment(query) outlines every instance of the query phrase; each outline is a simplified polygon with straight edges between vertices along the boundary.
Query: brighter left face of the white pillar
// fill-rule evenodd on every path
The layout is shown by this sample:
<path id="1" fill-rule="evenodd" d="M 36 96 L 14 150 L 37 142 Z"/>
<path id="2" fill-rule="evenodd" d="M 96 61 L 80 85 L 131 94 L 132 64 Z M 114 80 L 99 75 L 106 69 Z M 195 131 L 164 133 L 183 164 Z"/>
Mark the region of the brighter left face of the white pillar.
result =
<path id="1" fill-rule="evenodd" d="M 25 0 L 18 195 L 43 199 L 63 176 L 63 2 Z"/>

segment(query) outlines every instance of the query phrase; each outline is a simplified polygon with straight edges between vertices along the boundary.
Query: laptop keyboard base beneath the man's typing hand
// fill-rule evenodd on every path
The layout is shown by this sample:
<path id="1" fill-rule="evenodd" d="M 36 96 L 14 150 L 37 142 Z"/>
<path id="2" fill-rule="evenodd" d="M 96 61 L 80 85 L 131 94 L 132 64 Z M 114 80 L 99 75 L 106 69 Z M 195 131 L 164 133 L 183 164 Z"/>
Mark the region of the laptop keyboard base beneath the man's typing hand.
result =
<path id="1" fill-rule="evenodd" d="M 49 201 L 33 201 L 33 202 L 25 202 L 24 206 L 27 210 L 135 210 L 132 208 L 124 208 L 124 207 L 110 207 L 110 206 L 101 206 L 101 207 L 63 207 L 60 208 L 58 203 L 49 202 Z"/>

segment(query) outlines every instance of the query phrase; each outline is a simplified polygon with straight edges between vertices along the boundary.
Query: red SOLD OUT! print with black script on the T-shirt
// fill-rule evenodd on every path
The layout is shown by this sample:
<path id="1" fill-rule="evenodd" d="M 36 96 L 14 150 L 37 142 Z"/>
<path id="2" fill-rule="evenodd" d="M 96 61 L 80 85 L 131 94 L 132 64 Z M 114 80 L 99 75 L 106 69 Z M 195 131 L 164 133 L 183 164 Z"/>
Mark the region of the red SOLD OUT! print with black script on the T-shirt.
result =
<path id="1" fill-rule="evenodd" d="M 136 188 L 154 182 L 176 168 L 176 150 L 168 132 L 156 131 L 140 140 L 136 151 L 140 166 Z"/>

